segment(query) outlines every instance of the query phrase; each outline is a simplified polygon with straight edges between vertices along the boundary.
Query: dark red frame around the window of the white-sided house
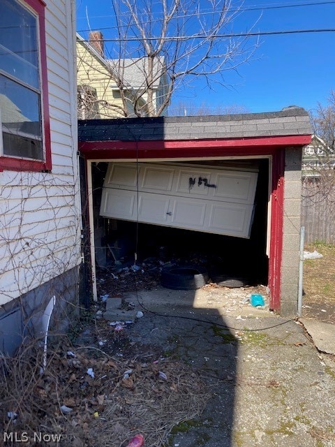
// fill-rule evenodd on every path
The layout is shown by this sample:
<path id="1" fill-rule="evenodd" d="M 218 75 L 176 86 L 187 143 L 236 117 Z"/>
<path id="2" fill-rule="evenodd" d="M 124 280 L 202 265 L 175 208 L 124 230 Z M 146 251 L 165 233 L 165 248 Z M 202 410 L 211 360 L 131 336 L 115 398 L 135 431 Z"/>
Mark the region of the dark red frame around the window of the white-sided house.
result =
<path id="1" fill-rule="evenodd" d="M 40 98 L 41 112 L 43 119 L 43 147 L 45 151 L 44 161 L 26 160 L 10 156 L 0 156 L 0 168 L 5 170 L 17 171 L 40 171 L 51 170 L 51 139 L 50 139 L 50 112 L 49 112 L 49 93 L 47 88 L 47 47 L 45 41 L 45 6 L 42 0 L 24 0 L 38 15 L 39 28 L 39 50 L 40 50 Z"/>

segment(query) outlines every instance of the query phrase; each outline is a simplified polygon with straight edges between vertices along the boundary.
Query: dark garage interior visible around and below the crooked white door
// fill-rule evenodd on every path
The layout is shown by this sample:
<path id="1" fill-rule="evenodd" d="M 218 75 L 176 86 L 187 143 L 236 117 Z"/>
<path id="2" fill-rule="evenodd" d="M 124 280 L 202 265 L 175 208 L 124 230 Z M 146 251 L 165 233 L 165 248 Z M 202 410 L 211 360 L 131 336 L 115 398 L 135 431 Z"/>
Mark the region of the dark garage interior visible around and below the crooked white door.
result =
<path id="1" fill-rule="evenodd" d="M 101 217 L 101 192 L 107 165 L 94 163 L 92 172 L 96 259 L 100 267 L 112 266 L 115 261 L 127 265 L 136 252 L 139 262 L 152 257 L 164 263 L 198 259 L 209 269 L 210 276 L 242 278 L 246 285 L 267 285 L 267 159 L 258 160 L 253 223 L 248 239 Z"/>

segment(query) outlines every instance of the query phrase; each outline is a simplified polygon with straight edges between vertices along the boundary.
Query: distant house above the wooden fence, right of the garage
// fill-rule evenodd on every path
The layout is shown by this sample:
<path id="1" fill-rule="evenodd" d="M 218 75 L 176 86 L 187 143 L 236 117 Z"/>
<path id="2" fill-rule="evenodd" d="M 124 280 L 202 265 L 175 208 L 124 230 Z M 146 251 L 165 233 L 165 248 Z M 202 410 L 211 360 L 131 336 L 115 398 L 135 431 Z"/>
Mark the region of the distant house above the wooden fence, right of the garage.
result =
<path id="1" fill-rule="evenodd" d="M 302 177 L 308 181 L 316 182 L 321 172 L 335 169 L 335 154 L 318 135 L 312 135 L 311 144 L 304 147 L 302 154 Z"/>

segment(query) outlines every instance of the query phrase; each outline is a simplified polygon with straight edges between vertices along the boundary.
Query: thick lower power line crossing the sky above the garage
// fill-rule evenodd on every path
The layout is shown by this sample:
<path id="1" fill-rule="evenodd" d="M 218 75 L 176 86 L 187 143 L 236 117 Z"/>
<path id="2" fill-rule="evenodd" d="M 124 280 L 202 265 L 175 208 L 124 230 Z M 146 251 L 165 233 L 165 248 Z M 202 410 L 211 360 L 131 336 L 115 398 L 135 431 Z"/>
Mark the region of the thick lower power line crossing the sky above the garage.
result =
<path id="1" fill-rule="evenodd" d="M 255 36 L 276 36 L 283 34 L 306 34 L 306 33 L 333 33 L 335 28 L 327 29 L 292 29 L 285 31 L 258 31 L 255 33 L 239 33 L 239 34 L 216 34 L 215 36 L 195 35 L 195 36 L 172 36 L 172 37 L 147 37 L 146 41 L 190 41 L 192 39 L 214 39 L 214 38 L 231 38 L 231 37 L 255 37 Z M 106 39 L 94 39 L 95 42 L 138 42 L 142 41 L 142 38 L 128 37 L 128 38 L 106 38 Z M 84 42 L 91 42 L 88 39 L 83 39 Z"/>

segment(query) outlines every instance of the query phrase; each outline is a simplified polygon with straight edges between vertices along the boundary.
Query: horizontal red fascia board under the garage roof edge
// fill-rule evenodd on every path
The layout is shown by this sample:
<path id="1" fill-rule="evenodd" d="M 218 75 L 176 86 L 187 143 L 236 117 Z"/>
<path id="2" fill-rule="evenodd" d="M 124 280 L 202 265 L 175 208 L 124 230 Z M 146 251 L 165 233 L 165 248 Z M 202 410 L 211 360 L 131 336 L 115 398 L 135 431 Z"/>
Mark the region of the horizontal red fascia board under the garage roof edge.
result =
<path id="1" fill-rule="evenodd" d="M 147 159 L 190 156 L 258 155 L 269 148 L 303 146 L 311 135 L 236 138 L 226 140 L 80 141 L 79 150 L 87 159 Z M 190 154 L 192 149 L 192 154 Z M 206 152 L 204 152 L 204 149 Z M 246 150 L 247 149 L 247 150 Z M 262 151 L 262 152 L 260 152 Z"/>

